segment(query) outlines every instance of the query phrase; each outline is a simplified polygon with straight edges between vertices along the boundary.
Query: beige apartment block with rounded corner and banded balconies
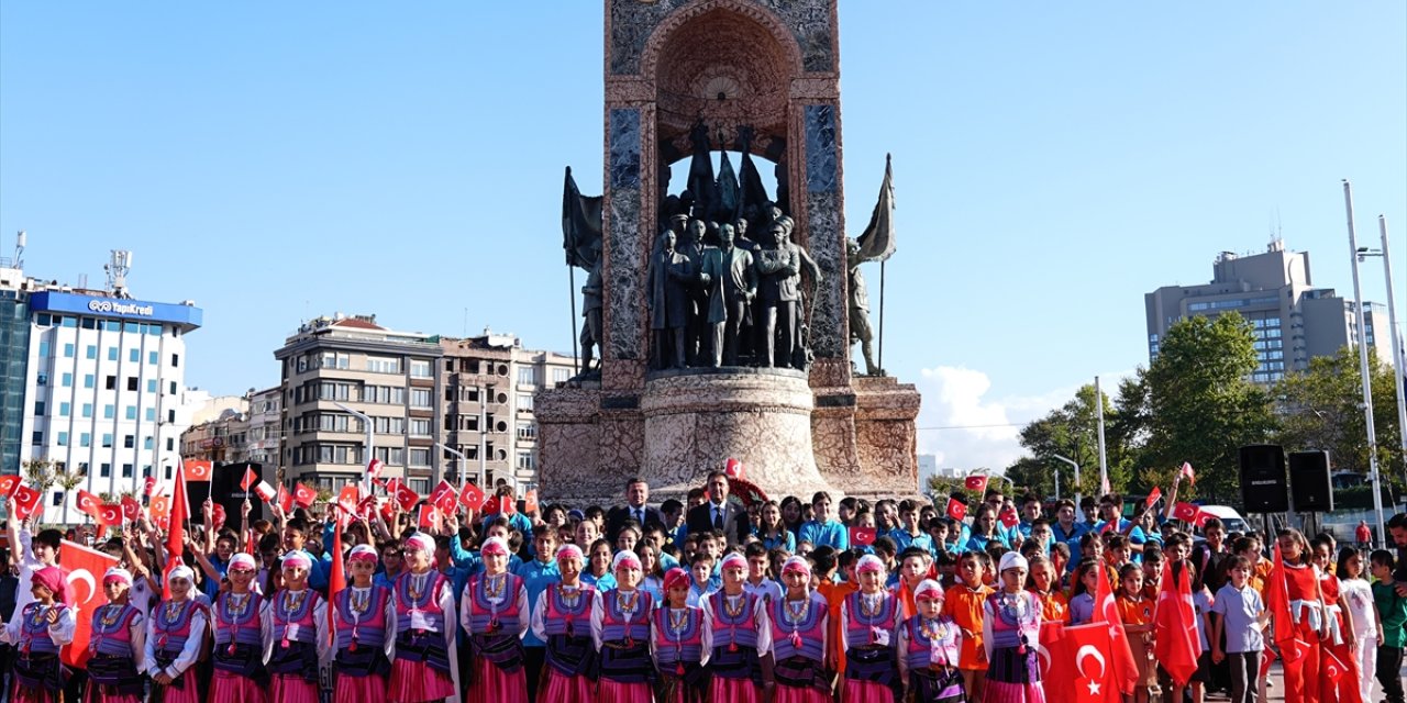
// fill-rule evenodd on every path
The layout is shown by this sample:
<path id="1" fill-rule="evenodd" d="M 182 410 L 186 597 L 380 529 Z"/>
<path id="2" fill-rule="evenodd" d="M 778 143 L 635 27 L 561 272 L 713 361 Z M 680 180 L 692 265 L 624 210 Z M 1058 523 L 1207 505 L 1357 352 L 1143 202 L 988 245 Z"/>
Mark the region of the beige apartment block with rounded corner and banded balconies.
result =
<path id="1" fill-rule="evenodd" d="M 439 481 L 440 439 L 438 336 L 395 332 L 374 315 L 324 316 L 305 322 L 274 352 L 281 364 L 280 464 L 284 481 L 336 492 L 360 481 L 366 426 L 371 419 L 376 458 L 384 477 L 402 477 L 425 495 Z M 266 474 L 269 475 L 269 474 Z"/>

